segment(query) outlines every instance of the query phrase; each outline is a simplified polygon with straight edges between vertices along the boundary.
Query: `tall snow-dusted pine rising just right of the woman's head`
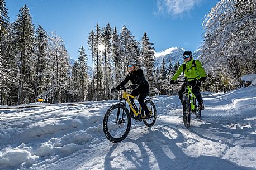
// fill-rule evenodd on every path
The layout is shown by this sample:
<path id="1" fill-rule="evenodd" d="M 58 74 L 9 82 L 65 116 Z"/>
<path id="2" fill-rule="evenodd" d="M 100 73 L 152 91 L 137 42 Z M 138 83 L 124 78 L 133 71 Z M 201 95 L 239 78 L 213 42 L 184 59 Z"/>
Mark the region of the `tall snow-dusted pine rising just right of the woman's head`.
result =
<path id="1" fill-rule="evenodd" d="M 149 82 L 150 91 L 149 95 L 157 95 L 158 91 L 157 88 L 155 88 L 155 82 L 154 82 L 154 47 L 153 43 L 149 42 L 149 37 L 144 32 L 143 37 L 140 41 L 141 45 L 141 61 L 142 61 L 142 67 L 144 71 L 145 78 Z"/>

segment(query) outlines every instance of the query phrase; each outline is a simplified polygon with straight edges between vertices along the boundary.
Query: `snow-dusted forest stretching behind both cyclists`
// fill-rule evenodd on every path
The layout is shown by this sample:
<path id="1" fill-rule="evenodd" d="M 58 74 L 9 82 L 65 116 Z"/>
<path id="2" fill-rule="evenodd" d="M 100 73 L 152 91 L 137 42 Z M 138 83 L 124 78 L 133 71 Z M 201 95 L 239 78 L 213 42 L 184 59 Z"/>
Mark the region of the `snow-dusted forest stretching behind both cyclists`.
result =
<path id="1" fill-rule="evenodd" d="M 4 0 L 0 0 L 0 104 L 20 105 L 44 99 L 48 103 L 119 99 L 110 93 L 127 75 L 134 60 L 150 85 L 149 96 L 176 95 L 178 85 L 169 84 L 178 61 L 154 65 L 154 43 L 144 32 L 136 40 L 125 25 L 121 30 L 106 23 L 84 32 L 88 45 L 77 47 L 74 65 L 58 33 L 35 26 L 29 7 L 23 6 L 12 23 Z M 203 91 L 238 88 L 241 77 L 256 74 L 256 1 L 220 1 L 203 25 L 201 60 L 207 74 Z M 92 59 L 92 75 L 88 74 Z M 176 63 L 176 64 L 172 64 Z"/>

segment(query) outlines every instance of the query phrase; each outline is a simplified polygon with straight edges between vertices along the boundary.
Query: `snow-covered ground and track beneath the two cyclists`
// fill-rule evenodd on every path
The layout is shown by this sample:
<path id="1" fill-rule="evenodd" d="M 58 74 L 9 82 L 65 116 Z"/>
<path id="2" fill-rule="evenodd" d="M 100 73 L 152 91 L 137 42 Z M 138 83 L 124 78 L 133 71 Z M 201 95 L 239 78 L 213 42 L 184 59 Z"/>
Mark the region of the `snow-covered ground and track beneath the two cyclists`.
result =
<path id="1" fill-rule="evenodd" d="M 155 125 L 132 120 L 116 144 L 102 120 L 117 101 L 1 109 L 0 169 L 256 169 L 256 88 L 203 99 L 187 129 L 178 96 L 158 96 Z"/>

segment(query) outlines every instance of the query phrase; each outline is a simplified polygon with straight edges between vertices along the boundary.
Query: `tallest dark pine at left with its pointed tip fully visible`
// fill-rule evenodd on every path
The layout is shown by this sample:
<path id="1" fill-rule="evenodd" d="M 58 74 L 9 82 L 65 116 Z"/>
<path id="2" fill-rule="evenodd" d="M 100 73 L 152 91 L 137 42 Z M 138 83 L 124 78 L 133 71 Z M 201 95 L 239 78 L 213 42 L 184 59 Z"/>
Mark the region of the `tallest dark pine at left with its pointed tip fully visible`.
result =
<path id="1" fill-rule="evenodd" d="M 20 9 L 20 14 L 15 21 L 15 44 L 19 57 L 20 77 L 18 83 L 18 104 L 23 104 L 25 92 L 29 91 L 26 84 L 26 75 L 29 67 L 31 67 L 32 45 L 34 43 L 34 25 L 29 8 L 25 5 Z"/>

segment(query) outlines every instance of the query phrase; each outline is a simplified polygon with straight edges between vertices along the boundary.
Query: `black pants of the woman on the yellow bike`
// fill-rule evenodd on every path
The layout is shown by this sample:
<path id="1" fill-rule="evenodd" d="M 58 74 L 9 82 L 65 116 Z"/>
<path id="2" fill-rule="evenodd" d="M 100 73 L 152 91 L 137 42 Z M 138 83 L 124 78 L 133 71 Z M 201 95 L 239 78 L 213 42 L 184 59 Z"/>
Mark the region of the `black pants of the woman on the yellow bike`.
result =
<path id="1" fill-rule="evenodd" d="M 139 104 L 140 104 L 141 108 L 145 111 L 146 115 L 149 115 L 149 109 L 146 106 L 144 100 L 145 100 L 146 96 L 148 96 L 148 94 L 149 94 L 149 88 L 146 88 L 146 89 L 143 89 L 143 90 L 141 90 L 141 89 L 134 89 L 131 92 L 132 96 L 136 97 L 136 96 L 140 95 L 139 98 L 138 98 L 138 101 L 139 101 Z M 129 97 L 129 99 L 130 100 L 134 100 L 133 98 L 130 98 L 130 97 Z M 143 110 L 141 110 L 141 111 L 143 111 Z M 130 111 L 131 111 L 131 109 L 130 109 Z M 131 113 L 132 113 L 132 111 L 131 111 Z"/>

